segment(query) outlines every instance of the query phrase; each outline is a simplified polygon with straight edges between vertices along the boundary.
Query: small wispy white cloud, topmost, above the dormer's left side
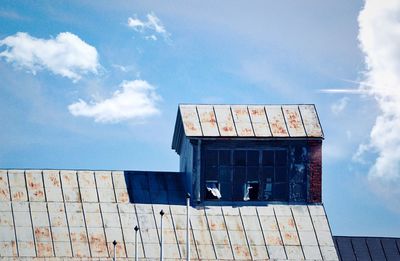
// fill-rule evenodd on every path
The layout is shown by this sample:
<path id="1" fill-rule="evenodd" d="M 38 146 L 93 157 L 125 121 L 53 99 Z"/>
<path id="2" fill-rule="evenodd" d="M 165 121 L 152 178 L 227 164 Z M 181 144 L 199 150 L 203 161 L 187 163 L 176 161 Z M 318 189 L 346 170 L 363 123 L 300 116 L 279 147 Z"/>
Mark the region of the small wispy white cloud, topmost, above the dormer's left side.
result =
<path id="1" fill-rule="evenodd" d="M 136 15 L 134 17 L 129 17 L 128 26 L 140 33 L 148 33 L 149 31 L 157 33 L 168 40 L 170 33 L 167 32 L 161 20 L 154 13 L 149 13 L 146 17 L 147 21 L 140 20 Z M 145 39 L 156 41 L 157 37 L 153 33 L 150 33 L 145 36 Z"/>

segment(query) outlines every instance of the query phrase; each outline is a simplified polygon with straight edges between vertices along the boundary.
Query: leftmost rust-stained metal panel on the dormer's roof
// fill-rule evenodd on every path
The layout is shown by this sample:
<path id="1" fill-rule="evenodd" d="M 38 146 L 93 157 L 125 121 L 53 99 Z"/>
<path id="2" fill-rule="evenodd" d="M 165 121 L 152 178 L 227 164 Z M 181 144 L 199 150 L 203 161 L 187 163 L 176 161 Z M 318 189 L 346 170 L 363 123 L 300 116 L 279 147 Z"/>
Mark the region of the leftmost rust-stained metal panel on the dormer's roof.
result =
<path id="1" fill-rule="evenodd" d="M 199 118 L 195 105 L 179 105 L 185 135 L 202 136 Z"/>

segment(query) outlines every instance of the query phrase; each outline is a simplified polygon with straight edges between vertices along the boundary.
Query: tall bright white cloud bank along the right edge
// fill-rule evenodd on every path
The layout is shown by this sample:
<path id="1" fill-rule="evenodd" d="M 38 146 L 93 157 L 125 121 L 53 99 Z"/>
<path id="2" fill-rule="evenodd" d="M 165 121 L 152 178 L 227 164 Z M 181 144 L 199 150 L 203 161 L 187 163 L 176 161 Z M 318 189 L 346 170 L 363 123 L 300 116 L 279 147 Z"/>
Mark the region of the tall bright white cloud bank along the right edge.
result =
<path id="1" fill-rule="evenodd" d="M 358 17 L 360 47 L 367 70 L 361 88 L 378 103 L 380 114 L 369 143 L 373 151 L 368 178 L 380 195 L 400 206 L 400 1 L 367 0 Z M 357 155 L 359 156 L 359 155 Z"/>

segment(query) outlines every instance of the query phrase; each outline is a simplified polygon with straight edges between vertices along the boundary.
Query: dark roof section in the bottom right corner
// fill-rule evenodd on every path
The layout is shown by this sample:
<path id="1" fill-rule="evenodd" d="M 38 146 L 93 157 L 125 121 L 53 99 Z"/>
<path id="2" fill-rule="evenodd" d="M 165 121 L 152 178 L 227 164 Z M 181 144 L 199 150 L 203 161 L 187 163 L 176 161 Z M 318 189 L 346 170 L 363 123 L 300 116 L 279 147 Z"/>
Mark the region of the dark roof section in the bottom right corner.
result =
<path id="1" fill-rule="evenodd" d="M 340 260 L 400 260 L 400 238 L 334 236 Z"/>

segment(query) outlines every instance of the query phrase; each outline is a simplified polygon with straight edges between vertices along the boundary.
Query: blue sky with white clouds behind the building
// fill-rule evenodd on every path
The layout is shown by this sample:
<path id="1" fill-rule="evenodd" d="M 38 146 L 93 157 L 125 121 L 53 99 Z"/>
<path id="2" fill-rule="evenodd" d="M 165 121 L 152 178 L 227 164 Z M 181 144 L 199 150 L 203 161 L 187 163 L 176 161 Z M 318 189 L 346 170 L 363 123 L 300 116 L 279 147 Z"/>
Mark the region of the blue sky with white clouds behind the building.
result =
<path id="1" fill-rule="evenodd" d="M 400 3 L 2 1 L 0 168 L 176 171 L 179 103 L 316 105 L 334 235 L 400 237 Z"/>

